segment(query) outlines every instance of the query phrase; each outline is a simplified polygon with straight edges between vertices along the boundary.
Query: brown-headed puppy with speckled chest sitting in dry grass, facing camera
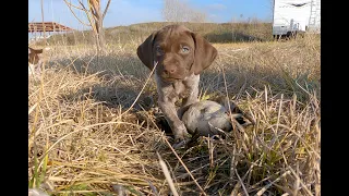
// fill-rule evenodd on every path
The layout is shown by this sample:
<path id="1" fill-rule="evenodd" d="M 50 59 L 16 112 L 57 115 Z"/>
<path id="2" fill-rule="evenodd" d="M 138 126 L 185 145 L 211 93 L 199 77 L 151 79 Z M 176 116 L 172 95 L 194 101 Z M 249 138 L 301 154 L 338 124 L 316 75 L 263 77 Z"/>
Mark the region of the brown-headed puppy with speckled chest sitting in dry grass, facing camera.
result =
<path id="1" fill-rule="evenodd" d="M 179 143 L 188 138 L 181 121 L 185 109 L 196 102 L 200 73 L 216 59 L 217 49 L 183 25 L 168 25 L 154 32 L 139 46 L 137 56 L 149 69 L 155 69 L 158 105 Z M 177 112 L 174 102 L 182 98 Z"/>

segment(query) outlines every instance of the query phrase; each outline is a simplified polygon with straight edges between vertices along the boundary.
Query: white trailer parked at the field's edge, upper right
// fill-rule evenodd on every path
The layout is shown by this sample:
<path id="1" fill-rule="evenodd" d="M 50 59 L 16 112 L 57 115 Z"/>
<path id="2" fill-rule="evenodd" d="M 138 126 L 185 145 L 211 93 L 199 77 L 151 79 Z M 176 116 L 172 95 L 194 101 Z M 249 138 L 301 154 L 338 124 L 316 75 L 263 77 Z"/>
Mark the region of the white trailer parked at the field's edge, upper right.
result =
<path id="1" fill-rule="evenodd" d="M 274 0 L 273 36 L 321 32 L 320 0 Z"/>

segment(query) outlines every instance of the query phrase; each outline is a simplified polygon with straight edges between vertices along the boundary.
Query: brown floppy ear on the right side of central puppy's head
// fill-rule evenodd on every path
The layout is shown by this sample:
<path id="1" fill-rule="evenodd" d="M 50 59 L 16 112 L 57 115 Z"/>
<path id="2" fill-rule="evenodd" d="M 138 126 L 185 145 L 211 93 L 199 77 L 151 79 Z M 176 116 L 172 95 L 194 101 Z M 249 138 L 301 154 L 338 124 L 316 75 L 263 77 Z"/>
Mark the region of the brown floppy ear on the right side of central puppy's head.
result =
<path id="1" fill-rule="evenodd" d="M 191 71 L 197 75 L 214 62 L 217 57 L 217 49 L 202 36 L 195 33 L 191 33 L 191 35 L 195 42 L 195 59 Z"/>

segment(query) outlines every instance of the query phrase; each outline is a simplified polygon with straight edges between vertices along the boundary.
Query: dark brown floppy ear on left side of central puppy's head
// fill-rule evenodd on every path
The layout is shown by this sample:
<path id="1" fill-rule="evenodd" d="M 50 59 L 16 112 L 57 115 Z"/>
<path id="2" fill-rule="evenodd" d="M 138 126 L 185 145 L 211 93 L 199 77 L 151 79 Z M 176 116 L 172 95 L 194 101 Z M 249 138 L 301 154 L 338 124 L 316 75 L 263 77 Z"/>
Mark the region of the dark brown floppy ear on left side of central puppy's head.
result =
<path id="1" fill-rule="evenodd" d="M 145 41 L 142 42 L 142 45 L 140 45 L 137 48 L 139 58 L 141 59 L 143 64 L 145 64 L 149 70 L 153 70 L 154 68 L 153 42 L 156 35 L 157 35 L 157 32 L 153 32 L 153 34 L 149 35 L 149 37 L 147 37 Z"/>

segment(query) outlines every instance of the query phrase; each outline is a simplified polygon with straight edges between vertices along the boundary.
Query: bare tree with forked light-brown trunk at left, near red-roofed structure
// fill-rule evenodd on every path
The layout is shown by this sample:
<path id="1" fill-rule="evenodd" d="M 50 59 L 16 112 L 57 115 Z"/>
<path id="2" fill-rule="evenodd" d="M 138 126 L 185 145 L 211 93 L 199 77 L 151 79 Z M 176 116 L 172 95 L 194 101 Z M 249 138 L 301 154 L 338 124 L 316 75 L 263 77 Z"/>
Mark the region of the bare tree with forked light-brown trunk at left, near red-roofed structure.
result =
<path id="1" fill-rule="evenodd" d="M 111 0 L 108 0 L 104 12 L 101 12 L 100 0 L 86 0 L 85 3 L 83 0 L 79 0 L 80 5 L 72 4 L 71 2 L 68 2 L 68 0 L 64 0 L 65 4 L 69 7 L 70 11 L 77 19 L 77 21 L 83 25 L 92 27 L 98 51 L 105 51 L 105 32 L 103 28 L 103 21 L 107 14 L 110 1 Z M 79 19 L 73 9 L 83 11 L 88 20 L 88 23 L 85 23 Z"/>

